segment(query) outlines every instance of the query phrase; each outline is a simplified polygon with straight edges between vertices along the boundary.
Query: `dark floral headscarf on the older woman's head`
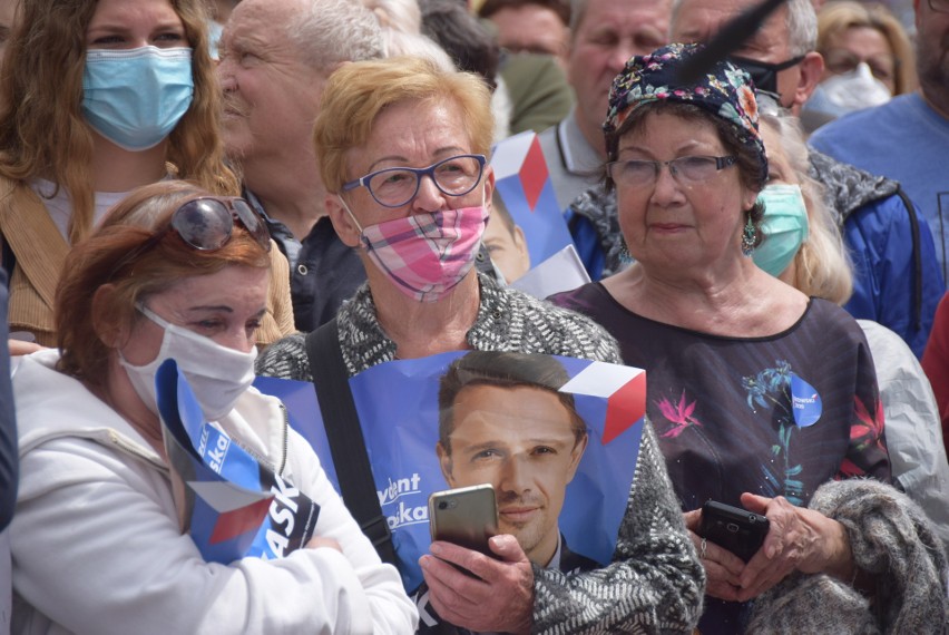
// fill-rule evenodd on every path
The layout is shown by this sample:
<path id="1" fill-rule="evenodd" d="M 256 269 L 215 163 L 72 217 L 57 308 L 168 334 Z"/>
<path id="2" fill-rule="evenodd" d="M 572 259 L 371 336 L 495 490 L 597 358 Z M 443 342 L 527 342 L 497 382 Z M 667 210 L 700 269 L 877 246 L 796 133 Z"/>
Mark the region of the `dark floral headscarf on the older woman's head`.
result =
<path id="1" fill-rule="evenodd" d="M 723 60 L 694 84 L 683 84 L 679 79 L 683 61 L 702 48 L 701 45 L 668 45 L 626 62 L 609 89 L 609 110 L 603 123 L 609 160 L 616 159 L 619 145 L 613 133 L 630 113 L 652 101 L 677 101 L 692 104 L 724 119 L 735 140 L 757 156 L 762 177 L 767 175 L 767 156 L 757 128 L 757 104 L 751 76 Z"/>

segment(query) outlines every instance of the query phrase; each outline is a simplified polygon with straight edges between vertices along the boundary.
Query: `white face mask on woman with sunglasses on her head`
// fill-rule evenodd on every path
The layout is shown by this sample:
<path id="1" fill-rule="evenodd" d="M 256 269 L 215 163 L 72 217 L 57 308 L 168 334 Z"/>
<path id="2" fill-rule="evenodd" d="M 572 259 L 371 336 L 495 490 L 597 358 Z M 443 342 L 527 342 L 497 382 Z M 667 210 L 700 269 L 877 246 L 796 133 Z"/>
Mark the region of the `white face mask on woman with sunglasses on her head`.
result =
<path id="1" fill-rule="evenodd" d="M 145 365 L 129 363 L 119 351 L 119 363 L 125 368 L 135 392 L 149 410 L 158 413 L 155 373 L 162 362 L 172 359 L 188 380 L 208 421 L 217 421 L 231 412 L 234 403 L 254 381 L 257 348 L 253 346 L 250 352 L 242 353 L 222 346 L 211 338 L 176 326 L 143 304 L 136 307 L 165 330 L 158 356 Z"/>

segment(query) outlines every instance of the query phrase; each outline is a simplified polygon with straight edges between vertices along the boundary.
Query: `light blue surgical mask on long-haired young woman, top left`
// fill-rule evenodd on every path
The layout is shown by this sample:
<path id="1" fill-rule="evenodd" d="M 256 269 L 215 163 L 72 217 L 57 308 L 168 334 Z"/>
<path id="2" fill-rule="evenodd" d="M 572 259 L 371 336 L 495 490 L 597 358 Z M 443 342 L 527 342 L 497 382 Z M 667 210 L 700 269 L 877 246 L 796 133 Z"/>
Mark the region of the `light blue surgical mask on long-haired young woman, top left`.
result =
<path id="1" fill-rule="evenodd" d="M 117 146 L 147 150 L 167 137 L 194 97 L 192 49 L 86 52 L 82 114 Z"/>

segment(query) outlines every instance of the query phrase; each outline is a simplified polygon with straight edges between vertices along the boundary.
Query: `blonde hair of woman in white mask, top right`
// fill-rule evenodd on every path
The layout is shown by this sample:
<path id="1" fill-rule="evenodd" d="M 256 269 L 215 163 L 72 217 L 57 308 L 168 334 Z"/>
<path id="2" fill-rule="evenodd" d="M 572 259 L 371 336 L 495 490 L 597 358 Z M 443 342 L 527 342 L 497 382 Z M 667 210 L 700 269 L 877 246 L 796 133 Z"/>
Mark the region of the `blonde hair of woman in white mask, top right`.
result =
<path id="1" fill-rule="evenodd" d="M 840 0 L 824 4 L 818 13 L 818 50 L 830 47 L 830 39 L 848 29 L 865 27 L 879 31 L 890 45 L 896 58 L 893 95 L 912 92 L 919 87 L 916 75 L 916 55 L 909 36 L 890 10 L 877 2 L 860 3 Z"/>

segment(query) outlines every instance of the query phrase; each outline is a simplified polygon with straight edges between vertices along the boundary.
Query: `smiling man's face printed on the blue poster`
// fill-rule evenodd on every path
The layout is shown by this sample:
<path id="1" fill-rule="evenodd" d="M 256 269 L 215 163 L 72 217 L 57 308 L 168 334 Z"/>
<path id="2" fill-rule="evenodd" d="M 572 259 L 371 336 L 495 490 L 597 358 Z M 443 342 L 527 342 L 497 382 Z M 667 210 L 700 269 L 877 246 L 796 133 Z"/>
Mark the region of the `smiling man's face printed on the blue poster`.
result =
<path id="1" fill-rule="evenodd" d="M 557 517 L 587 446 L 557 393 L 531 387 L 463 388 L 451 412 L 450 448 L 438 446 L 452 488 L 491 483 L 499 530 L 546 566 L 557 550 Z"/>

